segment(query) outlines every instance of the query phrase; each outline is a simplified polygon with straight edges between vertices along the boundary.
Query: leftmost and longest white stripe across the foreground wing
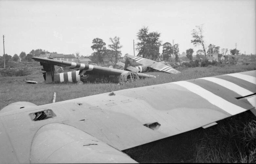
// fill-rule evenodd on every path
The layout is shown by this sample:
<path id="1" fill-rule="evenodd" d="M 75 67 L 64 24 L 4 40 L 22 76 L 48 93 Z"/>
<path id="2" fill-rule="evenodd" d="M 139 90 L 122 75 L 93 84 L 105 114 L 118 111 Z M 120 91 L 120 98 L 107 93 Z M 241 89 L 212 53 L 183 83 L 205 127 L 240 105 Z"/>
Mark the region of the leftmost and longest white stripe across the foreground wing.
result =
<path id="1" fill-rule="evenodd" d="M 221 108 L 222 110 L 228 112 L 231 115 L 235 115 L 235 114 L 246 111 L 246 109 L 241 108 L 240 106 L 237 106 L 235 104 L 232 104 L 231 102 L 191 82 L 180 81 L 180 82 L 172 82 L 172 83 L 183 86 L 184 88 L 201 96 L 203 99 L 209 101 L 211 104 Z"/>

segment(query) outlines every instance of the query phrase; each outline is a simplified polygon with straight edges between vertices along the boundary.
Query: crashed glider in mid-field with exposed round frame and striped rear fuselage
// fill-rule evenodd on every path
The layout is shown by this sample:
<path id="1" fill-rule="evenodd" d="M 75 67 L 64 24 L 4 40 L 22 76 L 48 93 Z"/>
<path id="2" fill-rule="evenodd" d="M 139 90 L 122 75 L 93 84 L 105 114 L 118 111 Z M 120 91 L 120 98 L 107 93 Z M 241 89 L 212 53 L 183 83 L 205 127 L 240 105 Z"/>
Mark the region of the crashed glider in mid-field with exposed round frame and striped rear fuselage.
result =
<path id="1" fill-rule="evenodd" d="M 125 71 L 114 68 L 102 67 L 97 65 L 82 64 L 76 62 L 67 62 L 49 58 L 32 57 L 43 66 L 44 79 L 46 83 L 50 82 L 128 82 L 139 78 L 155 78 L 153 75 Z M 55 65 L 68 67 L 77 71 L 58 73 L 55 71 Z"/>

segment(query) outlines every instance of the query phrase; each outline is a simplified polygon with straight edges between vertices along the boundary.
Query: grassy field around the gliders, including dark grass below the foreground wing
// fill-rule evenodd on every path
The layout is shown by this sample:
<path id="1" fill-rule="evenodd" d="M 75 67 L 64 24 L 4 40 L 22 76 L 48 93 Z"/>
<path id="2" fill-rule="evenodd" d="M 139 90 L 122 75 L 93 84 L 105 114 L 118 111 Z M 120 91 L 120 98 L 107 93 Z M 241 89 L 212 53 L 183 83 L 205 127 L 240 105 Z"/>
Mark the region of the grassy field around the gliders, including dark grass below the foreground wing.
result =
<path id="1" fill-rule="evenodd" d="M 0 78 L 0 109 L 16 101 L 29 101 L 36 105 L 85 97 L 126 88 L 166 82 L 217 76 L 255 70 L 255 64 L 178 68 L 180 74 L 150 72 L 155 79 L 144 79 L 124 85 L 116 83 L 45 84 L 42 74 Z M 28 84 L 25 80 L 40 83 Z M 173 137 L 141 145 L 124 152 L 138 162 L 245 162 L 256 163 L 256 118 L 250 112 L 218 121 L 207 129 L 196 129 Z"/>

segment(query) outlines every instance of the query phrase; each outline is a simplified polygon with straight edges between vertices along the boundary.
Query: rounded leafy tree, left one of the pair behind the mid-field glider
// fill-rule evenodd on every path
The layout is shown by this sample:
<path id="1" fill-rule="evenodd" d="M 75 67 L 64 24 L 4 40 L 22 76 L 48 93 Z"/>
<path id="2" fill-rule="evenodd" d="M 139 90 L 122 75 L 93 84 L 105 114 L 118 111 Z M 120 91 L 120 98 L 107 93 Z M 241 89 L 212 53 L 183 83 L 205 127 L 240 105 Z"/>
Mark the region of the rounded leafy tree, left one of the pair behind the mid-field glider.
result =
<path id="1" fill-rule="evenodd" d="M 96 55 L 97 62 L 103 62 L 103 54 L 106 51 L 106 43 L 100 38 L 95 38 L 92 40 L 92 44 L 92 50 L 96 51 L 96 54 L 93 53 L 93 56 Z"/>

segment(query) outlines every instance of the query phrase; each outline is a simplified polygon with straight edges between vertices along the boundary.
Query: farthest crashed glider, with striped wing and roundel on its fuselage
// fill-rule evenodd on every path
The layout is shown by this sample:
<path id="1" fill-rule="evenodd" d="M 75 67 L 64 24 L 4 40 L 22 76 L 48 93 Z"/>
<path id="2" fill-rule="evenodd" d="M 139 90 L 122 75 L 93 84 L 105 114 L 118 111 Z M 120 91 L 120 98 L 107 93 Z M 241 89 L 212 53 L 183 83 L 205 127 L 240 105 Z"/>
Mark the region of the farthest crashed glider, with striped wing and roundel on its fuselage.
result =
<path id="1" fill-rule="evenodd" d="M 132 70 L 132 71 L 136 71 L 136 72 L 148 72 L 150 70 L 150 68 L 153 68 L 158 71 L 163 71 L 163 72 L 172 73 L 172 74 L 180 73 L 176 69 L 172 68 L 171 66 L 165 65 L 162 62 L 156 62 L 156 61 L 153 61 L 150 59 L 145 59 L 145 58 L 141 58 L 138 56 L 132 56 L 132 55 L 126 55 L 126 57 L 133 59 L 135 62 L 137 62 L 139 64 L 142 64 L 142 65 L 139 65 L 136 67 L 132 67 L 132 66 L 128 66 L 127 62 L 125 63 L 125 66 L 123 66 L 124 64 L 121 64 L 120 62 L 117 63 L 120 66 L 123 66 L 127 70 Z"/>

